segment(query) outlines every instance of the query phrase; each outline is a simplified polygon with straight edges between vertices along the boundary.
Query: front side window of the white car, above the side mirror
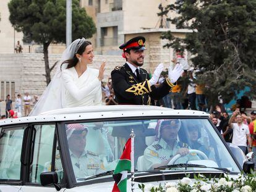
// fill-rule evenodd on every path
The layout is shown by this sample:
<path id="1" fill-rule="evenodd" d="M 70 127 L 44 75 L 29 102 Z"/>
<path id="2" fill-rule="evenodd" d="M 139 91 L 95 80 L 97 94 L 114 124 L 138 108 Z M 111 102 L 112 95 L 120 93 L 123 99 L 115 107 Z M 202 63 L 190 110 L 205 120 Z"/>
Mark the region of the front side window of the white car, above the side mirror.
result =
<path id="1" fill-rule="evenodd" d="M 51 171 L 55 125 L 34 125 L 35 141 L 30 182 L 40 183 L 40 174 Z"/>

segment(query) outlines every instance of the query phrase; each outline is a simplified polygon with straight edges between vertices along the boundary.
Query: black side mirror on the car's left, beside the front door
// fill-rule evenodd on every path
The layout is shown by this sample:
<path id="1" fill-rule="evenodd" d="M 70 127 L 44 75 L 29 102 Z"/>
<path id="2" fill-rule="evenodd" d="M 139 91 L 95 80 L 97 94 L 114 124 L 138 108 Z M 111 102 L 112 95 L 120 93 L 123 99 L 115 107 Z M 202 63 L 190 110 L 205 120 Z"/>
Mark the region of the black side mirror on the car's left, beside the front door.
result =
<path id="1" fill-rule="evenodd" d="M 57 185 L 58 183 L 58 174 L 56 172 L 44 172 L 40 174 L 41 185 L 49 186 L 54 185 L 56 190 L 61 190 L 61 187 Z"/>

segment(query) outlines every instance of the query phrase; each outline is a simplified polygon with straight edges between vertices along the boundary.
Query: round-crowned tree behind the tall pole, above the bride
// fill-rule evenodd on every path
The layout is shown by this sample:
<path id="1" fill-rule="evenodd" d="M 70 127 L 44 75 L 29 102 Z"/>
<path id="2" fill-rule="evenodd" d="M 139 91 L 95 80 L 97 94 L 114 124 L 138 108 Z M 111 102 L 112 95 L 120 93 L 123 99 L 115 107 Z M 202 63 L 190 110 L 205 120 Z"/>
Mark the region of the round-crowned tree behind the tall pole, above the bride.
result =
<path id="1" fill-rule="evenodd" d="M 22 31 L 25 40 L 43 44 L 47 85 L 51 81 L 48 47 L 51 43 L 66 41 L 66 0 L 11 0 L 8 4 L 12 25 Z M 95 24 L 79 0 L 72 0 L 72 39 L 92 37 Z"/>

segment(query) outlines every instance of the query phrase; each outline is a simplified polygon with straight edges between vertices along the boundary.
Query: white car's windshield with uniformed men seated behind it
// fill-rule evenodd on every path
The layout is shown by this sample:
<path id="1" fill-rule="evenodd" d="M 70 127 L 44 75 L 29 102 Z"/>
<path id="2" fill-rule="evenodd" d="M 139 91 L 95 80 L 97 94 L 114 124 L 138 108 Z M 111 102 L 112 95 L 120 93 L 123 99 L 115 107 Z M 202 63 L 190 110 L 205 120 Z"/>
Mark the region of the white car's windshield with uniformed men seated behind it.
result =
<path id="1" fill-rule="evenodd" d="M 197 164 L 240 172 L 208 119 L 143 119 L 66 123 L 70 160 L 78 181 L 114 170 L 133 129 L 138 171 Z M 182 152 L 186 151 L 186 155 Z M 177 154 L 182 154 L 181 156 Z M 172 170 L 184 170 L 171 168 Z M 213 170 L 191 167 L 190 170 Z"/>

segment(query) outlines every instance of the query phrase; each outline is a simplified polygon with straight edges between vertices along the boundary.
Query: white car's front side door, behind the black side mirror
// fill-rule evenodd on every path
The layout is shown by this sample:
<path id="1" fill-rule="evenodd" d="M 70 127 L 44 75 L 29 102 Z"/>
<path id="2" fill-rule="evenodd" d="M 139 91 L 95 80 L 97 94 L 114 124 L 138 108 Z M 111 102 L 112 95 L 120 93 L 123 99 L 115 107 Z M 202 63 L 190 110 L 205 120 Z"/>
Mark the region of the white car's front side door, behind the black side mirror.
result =
<path id="1" fill-rule="evenodd" d="M 63 186 L 63 169 L 58 151 L 56 125 L 55 123 L 41 123 L 31 125 L 31 127 L 33 128 L 33 136 L 30 169 L 27 173 L 27 182 L 21 190 L 23 192 L 57 191 L 53 185 L 42 186 L 40 181 L 41 173 L 56 171 L 58 173 L 58 185 Z M 60 191 L 64 190 L 65 188 L 62 188 Z"/>

